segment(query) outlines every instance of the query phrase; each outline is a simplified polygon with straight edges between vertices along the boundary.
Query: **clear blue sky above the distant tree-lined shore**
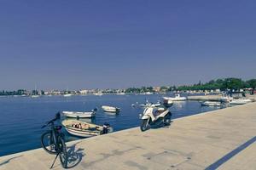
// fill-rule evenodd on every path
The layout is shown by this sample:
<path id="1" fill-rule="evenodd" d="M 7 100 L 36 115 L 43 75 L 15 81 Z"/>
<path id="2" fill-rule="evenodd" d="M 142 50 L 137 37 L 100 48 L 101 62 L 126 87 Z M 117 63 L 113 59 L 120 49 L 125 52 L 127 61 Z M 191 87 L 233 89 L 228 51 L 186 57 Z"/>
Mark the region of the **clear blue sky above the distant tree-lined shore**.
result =
<path id="1" fill-rule="evenodd" d="M 0 1 L 0 89 L 256 77 L 255 1 Z"/>

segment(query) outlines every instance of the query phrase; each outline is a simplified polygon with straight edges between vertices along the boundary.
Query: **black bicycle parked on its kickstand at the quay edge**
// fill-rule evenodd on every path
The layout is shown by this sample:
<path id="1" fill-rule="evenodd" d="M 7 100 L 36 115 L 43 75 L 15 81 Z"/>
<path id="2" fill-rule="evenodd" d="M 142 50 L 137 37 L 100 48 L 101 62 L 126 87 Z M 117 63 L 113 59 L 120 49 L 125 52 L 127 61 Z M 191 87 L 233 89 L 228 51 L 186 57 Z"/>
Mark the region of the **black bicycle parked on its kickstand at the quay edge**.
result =
<path id="1" fill-rule="evenodd" d="M 50 127 L 48 131 L 42 134 L 41 144 L 45 151 L 54 154 L 55 160 L 60 156 L 61 166 L 67 168 L 67 148 L 64 140 L 64 134 L 61 133 L 61 126 L 55 126 L 55 121 L 61 118 L 61 114 L 57 113 L 55 118 L 42 127 Z M 50 168 L 55 164 L 55 160 Z"/>

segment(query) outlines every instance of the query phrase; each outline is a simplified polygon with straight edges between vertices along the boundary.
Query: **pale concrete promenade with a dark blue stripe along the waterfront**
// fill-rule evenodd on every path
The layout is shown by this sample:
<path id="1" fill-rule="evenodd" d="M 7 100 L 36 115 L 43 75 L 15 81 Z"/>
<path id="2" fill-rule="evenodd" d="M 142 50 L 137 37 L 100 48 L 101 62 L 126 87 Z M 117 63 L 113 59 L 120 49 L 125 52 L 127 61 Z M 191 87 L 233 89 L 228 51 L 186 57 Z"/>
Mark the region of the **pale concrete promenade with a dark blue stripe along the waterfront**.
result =
<path id="1" fill-rule="evenodd" d="M 68 143 L 73 169 L 256 169 L 256 103 Z M 39 141 L 38 141 L 39 142 Z M 43 149 L 0 157 L 0 169 L 49 169 Z M 54 169 L 62 169 L 59 159 Z"/>

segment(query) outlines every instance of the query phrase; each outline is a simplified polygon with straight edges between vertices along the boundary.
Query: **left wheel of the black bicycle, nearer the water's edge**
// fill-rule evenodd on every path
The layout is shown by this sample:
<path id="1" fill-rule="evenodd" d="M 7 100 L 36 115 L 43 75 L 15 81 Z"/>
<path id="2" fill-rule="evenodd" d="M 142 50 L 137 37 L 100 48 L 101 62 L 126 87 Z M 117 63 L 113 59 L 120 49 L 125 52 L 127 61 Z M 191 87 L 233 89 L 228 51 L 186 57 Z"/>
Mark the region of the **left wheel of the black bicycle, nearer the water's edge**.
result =
<path id="1" fill-rule="evenodd" d="M 47 151 L 49 154 L 57 154 L 57 151 L 55 150 L 53 135 L 50 131 L 42 134 L 41 144 L 44 150 Z"/>

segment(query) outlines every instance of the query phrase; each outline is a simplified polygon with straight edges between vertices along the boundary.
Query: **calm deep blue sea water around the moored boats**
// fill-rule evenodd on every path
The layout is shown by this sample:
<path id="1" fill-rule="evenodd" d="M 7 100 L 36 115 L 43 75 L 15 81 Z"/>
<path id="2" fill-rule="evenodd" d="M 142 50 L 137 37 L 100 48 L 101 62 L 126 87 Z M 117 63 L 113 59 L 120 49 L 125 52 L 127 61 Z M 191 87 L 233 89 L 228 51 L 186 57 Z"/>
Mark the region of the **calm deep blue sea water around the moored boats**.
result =
<path id="1" fill-rule="evenodd" d="M 102 105 L 113 105 L 121 108 L 119 115 L 107 114 L 102 110 L 96 112 L 96 117 L 91 120 L 102 125 L 108 122 L 114 131 L 131 127 L 138 127 L 139 114 L 143 112 L 140 107 L 131 107 L 131 104 L 157 102 L 161 95 L 103 95 L 103 96 L 52 96 L 52 97 L 0 97 L 0 156 L 32 150 L 41 147 L 40 135 L 44 122 L 55 116 L 57 111 L 90 111 L 101 108 Z M 189 116 L 205 111 L 217 110 L 216 107 L 201 107 L 197 101 L 176 102 L 170 110 L 172 118 Z M 65 129 L 63 129 L 64 133 Z M 79 139 L 66 135 L 67 140 Z"/>

